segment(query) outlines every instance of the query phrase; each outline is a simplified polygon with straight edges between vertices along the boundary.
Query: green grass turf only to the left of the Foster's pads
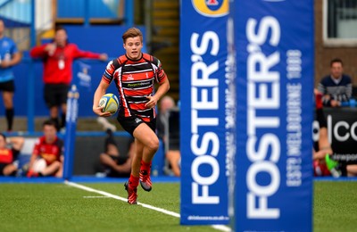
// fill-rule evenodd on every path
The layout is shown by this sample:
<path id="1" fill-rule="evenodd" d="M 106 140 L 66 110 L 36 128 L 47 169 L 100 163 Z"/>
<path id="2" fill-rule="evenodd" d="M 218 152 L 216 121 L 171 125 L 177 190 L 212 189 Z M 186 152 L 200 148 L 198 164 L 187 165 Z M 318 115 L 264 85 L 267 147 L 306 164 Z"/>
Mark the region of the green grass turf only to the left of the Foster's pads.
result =
<path id="1" fill-rule="evenodd" d="M 122 184 L 87 184 L 126 197 Z M 216 231 L 64 184 L 0 184 L 1 231 Z M 138 189 L 138 201 L 179 213 L 179 184 Z M 99 196 L 98 198 L 89 198 Z"/>

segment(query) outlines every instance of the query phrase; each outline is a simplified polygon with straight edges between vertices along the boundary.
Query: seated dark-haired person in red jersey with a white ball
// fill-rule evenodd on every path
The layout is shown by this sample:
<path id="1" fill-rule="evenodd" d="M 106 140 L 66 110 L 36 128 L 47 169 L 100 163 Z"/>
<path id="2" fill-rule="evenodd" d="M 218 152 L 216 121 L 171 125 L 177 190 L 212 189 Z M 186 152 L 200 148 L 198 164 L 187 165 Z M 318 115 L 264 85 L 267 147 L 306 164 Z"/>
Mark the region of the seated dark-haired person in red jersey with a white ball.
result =
<path id="1" fill-rule="evenodd" d="M 53 120 L 43 123 L 44 136 L 39 137 L 29 160 L 28 177 L 54 176 L 62 178 L 63 142 L 57 137 Z"/>

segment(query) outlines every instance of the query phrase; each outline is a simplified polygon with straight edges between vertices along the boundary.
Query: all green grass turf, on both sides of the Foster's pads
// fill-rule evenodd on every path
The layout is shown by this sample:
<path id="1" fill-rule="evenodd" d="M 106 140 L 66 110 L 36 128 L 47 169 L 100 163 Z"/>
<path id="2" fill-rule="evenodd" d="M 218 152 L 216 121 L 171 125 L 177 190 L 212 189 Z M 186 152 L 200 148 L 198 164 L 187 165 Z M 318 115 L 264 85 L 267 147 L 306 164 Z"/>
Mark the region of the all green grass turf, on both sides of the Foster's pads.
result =
<path id="1" fill-rule="evenodd" d="M 126 198 L 121 183 L 84 184 Z M 314 183 L 314 231 L 355 231 L 357 182 Z M 217 231 L 64 184 L 0 184 L 1 231 Z M 138 189 L 138 202 L 179 213 L 179 183 Z"/>

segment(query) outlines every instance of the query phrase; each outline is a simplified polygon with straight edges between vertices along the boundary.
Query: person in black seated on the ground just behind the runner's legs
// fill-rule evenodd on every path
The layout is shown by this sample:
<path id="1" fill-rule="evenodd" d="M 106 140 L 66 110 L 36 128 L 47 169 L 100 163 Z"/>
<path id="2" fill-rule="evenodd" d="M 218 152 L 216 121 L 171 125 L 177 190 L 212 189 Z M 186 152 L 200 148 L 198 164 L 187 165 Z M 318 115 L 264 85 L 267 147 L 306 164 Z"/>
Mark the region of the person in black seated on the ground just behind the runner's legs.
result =
<path id="1" fill-rule="evenodd" d="M 128 155 L 120 155 L 118 144 L 112 135 L 112 130 L 106 130 L 107 137 L 104 142 L 104 153 L 99 156 L 100 162 L 104 165 L 106 177 L 128 178 L 130 177 L 131 161 L 135 155 L 135 142 L 133 138 L 129 140 Z"/>

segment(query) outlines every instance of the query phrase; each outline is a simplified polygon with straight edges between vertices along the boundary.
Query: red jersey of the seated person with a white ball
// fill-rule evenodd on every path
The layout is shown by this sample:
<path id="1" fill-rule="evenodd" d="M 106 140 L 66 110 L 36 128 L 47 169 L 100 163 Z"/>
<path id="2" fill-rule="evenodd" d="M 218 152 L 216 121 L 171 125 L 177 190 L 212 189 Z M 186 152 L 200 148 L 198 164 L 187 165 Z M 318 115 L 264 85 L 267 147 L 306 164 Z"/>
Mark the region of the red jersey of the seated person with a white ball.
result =
<path id="1" fill-rule="evenodd" d="M 57 137 L 52 144 L 47 144 L 45 137 L 39 137 L 33 153 L 41 156 L 41 158 L 46 160 L 47 165 L 49 165 L 54 161 L 60 161 L 62 150 L 63 141 L 59 137 Z"/>

